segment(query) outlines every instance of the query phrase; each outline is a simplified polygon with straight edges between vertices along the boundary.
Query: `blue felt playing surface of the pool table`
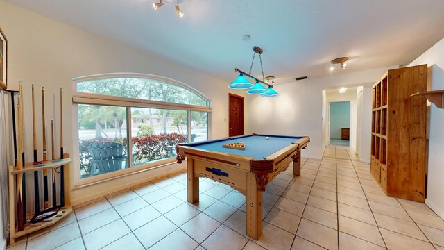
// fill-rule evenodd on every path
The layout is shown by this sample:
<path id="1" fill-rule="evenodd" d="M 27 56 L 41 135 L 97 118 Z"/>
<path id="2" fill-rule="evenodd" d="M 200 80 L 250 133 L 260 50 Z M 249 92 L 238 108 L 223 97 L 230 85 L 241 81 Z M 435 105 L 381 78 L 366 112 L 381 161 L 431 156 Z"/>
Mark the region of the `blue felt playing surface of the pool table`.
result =
<path id="1" fill-rule="evenodd" d="M 270 139 L 266 140 L 266 137 Z M 187 146 L 196 147 L 198 149 L 205 149 L 208 151 L 218 151 L 221 153 L 230 153 L 238 156 L 246 156 L 255 158 L 257 160 L 264 160 L 272 153 L 283 149 L 284 147 L 293 144 L 302 137 L 295 136 L 273 136 L 273 135 L 245 135 L 232 138 L 231 140 L 221 139 L 212 140 L 209 142 L 195 142 L 187 144 Z M 228 149 L 222 147 L 223 144 L 228 143 L 245 143 L 245 150 Z"/>

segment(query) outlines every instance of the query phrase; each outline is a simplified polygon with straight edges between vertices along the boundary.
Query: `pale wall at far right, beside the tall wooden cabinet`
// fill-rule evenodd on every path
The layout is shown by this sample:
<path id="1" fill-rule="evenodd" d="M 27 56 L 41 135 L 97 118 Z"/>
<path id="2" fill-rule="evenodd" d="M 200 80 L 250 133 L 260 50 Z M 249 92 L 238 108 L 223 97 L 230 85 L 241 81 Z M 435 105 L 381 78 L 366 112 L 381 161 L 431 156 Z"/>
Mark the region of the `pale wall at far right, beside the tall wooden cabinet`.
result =
<path id="1" fill-rule="evenodd" d="M 428 90 L 444 90 L 444 39 L 436 43 L 409 66 L 426 64 Z M 427 195 L 425 203 L 444 219 L 444 109 L 434 104 L 427 107 L 429 156 L 427 165 Z"/>

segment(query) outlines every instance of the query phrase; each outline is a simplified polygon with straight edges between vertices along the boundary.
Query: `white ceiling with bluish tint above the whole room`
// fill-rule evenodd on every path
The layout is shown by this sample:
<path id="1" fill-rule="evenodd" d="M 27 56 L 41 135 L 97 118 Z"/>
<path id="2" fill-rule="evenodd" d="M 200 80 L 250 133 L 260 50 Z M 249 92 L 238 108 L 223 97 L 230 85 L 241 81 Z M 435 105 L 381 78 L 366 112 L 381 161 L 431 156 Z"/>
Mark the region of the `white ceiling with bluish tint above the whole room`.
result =
<path id="1" fill-rule="evenodd" d="M 183 0 L 182 18 L 157 0 L 6 1 L 225 81 L 248 72 L 253 45 L 282 83 L 407 64 L 444 37 L 443 0 Z M 348 68 L 331 73 L 340 56 Z"/>

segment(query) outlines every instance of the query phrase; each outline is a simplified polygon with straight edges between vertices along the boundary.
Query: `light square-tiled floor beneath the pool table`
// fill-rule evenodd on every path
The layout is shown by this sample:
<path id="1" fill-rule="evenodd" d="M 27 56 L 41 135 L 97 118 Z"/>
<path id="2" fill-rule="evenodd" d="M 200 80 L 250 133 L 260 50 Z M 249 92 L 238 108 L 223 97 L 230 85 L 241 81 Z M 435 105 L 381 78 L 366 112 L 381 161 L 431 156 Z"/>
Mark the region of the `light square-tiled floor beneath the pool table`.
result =
<path id="1" fill-rule="evenodd" d="M 186 174 L 75 207 L 15 249 L 444 249 L 444 222 L 424 203 L 387 197 L 355 152 L 330 146 L 264 192 L 263 234 L 246 235 L 245 197 L 200 179 L 187 203 Z"/>

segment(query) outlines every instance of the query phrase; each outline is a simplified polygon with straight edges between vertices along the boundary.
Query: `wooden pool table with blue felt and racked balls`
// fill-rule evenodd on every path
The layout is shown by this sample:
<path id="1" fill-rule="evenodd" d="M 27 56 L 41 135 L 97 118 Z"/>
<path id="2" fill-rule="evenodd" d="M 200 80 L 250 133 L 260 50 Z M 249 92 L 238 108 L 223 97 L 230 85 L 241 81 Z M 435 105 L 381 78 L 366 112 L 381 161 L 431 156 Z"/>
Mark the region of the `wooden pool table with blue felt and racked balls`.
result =
<path id="1" fill-rule="evenodd" d="M 293 174 L 300 172 L 300 151 L 307 136 L 241 135 L 220 140 L 178 144 L 178 163 L 187 158 L 187 199 L 199 200 L 199 177 L 230 185 L 246 195 L 247 235 L 258 240 L 262 234 L 262 192 L 268 182 L 293 162 Z M 244 150 L 222 147 L 244 142 Z"/>

